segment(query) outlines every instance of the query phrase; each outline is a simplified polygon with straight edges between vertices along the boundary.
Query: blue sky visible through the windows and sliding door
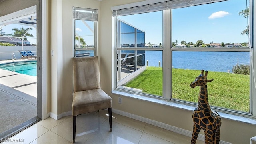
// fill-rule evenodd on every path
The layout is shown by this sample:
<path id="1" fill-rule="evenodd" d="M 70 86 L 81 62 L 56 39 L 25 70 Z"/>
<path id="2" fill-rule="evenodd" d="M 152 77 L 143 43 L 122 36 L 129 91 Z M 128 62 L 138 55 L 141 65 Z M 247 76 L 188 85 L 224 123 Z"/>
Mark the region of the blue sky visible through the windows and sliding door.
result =
<path id="1" fill-rule="evenodd" d="M 248 36 L 241 35 L 247 26 L 247 19 L 239 16 L 241 10 L 246 9 L 248 0 L 229 0 L 212 4 L 190 6 L 172 10 L 172 42 L 178 40 L 196 43 L 242 43 L 248 42 Z M 249 4 L 248 4 L 249 7 Z M 162 42 L 162 11 L 128 16 L 119 16 L 121 20 L 145 32 L 146 44 Z M 92 25 L 89 23 L 89 26 Z M 28 28 L 28 26 L 23 26 Z M 12 28 L 22 28 L 17 24 L 4 26 L 3 32 L 13 34 Z M 92 35 L 92 32 L 80 22 L 76 24 L 76 34 L 79 36 Z M 29 31 L 36 37 L 36 29 Z M 93 43 L 92 36 L 83 37 L 86 44 Z M 28 38 L 36 43 L 36 39 Z"/>

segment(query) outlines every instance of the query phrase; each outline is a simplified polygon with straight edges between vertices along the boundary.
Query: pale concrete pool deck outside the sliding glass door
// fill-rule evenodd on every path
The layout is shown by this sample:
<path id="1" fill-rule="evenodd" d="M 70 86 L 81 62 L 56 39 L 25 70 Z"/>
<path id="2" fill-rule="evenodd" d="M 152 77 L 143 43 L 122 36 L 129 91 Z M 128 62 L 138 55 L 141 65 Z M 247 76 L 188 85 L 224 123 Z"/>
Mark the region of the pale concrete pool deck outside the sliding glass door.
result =
<path id="1" fill-rule="evenodd" d="M 14 60 L 20 62 L 25 60 Z M 2 63 L 13 62 L 2 60 Z M 35 117 L 37 77 L 0 69 L 0 132 Z"/>

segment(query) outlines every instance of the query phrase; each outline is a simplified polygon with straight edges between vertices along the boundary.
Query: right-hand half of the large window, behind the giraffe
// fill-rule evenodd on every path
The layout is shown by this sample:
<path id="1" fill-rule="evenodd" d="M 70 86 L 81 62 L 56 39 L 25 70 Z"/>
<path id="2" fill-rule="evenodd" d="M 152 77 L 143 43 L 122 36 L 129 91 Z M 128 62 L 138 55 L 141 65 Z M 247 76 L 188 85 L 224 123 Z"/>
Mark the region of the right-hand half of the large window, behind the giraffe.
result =
<path id="1" fill-rule="evenodd" d="M 234 10 L 231 5 L 238 7 Z M 197 102 L 198 88 L 186 87 L 186 93 L 178 88 L 185 89 L 182 83 L 189 83 L 189 78 L 192 82 L 193 76 L 204 69 L 209 71 L 208 79 L 214 79 L 207 84 L 211 106 L 250 112 L 249 39 L 241 34 L 248 24 L 246 18 L 238 15 L 245 9 L 246 1 L 229 0 L 172 10 L 173 99 Z M 194 15 L 196 20 L 192 18 Z M 246 74 L 234 70 L 236 66 L 247 66 L 242 69 L 247 70 Z M 180 76 L 183 71 L 193 75 Z M 174 82 L 177 78 L 178 83 Z"/>

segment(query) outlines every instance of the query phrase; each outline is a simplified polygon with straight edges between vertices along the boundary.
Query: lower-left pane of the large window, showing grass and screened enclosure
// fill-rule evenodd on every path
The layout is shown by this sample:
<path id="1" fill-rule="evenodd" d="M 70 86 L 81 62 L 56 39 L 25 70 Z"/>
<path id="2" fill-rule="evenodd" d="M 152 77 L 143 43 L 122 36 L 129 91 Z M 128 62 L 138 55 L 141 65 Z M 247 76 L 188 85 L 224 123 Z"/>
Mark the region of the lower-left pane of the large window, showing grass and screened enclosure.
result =
<path id="1" fill-rule="evenodd" d="M 162 96 L 162 51 L 118 50 L 117 58 L 117 88 Z"/>

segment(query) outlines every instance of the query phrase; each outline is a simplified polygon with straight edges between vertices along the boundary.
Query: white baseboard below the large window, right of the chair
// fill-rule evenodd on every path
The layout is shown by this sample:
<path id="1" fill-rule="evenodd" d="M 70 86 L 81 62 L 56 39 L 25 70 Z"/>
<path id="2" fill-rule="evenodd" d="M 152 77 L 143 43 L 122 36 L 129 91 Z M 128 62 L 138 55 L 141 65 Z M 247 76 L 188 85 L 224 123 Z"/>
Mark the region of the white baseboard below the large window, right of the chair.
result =
<path id="1" fill-rule="evenodd" d="M 176 133 L 182 134 L 184 136 L 189 136 L 189 137 L 192 136 L 192 131 L 189 131 L 189 130 L 184 130 L 182 128 L 178 128 L 178 127 L 175 127 L 175 126 L 164 124 L 162 122 L 158 122 L 158 121 L 155 121 L 155 120 L 144 118 L 142 116 L 137 116 L 135 114 L 130 114 L 128 112 L 124 112 L 124 111 L 121 111 L 121 110 L 116 110 L 116 109 L 113 109 L 113 108 L 112 108 L 112 112 L 116 113 L 116 114 L 120 114 L 122 116 L 126 116 L 128 118 L 139 120 L 141 122 L 146 122 L 147 124 L 152 124 L 154 126 L 158 126 L 160 128 L 164 128 L 166 130 L 170 130 L 172 132 L 176 132 Z M 204 141 L 204 135 L 199 134 L 197 139 Z M 220 144 L 231 144 L 231 143 L 220 140 Z"/>

